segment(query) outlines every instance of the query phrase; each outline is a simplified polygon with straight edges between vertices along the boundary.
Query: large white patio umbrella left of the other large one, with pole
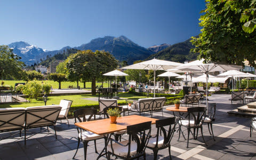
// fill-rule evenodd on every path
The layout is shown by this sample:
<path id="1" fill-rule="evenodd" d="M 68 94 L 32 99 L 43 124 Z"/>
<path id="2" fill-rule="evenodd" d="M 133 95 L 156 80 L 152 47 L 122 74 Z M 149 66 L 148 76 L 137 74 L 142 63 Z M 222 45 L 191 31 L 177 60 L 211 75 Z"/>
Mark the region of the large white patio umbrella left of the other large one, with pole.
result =
<path id="1" fill-rule="evenodd" d="M 121 69 L 147 69 L 154 71 L 154 97 L 155 97 L 155 86 L 156 86 L 156 70 L 167 70 L 172 69 L 177 66 L 182 65 L 182 63 L 165 61 L 159 59 L 151 59 L 148 61 L 143 61 L 140 63 L 136 63 L 134 65 L 122 67 Z"/>

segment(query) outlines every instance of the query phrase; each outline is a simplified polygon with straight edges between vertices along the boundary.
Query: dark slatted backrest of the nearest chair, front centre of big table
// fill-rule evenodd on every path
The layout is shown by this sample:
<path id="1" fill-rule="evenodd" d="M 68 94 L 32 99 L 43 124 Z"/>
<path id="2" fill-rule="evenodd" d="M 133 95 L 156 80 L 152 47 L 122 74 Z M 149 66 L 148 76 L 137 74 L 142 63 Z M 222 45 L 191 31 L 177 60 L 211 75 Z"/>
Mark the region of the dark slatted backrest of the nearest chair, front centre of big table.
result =
<path id="1" fill-rule="evenodd" d="M 151 121 L 127 126 L 127 134 L 129 134 L 129 149 L 127 157 L 130 157 L 132 138 L 137 142 L 137 154 L 141 154 L 145 152 L 150 133 Z"/>

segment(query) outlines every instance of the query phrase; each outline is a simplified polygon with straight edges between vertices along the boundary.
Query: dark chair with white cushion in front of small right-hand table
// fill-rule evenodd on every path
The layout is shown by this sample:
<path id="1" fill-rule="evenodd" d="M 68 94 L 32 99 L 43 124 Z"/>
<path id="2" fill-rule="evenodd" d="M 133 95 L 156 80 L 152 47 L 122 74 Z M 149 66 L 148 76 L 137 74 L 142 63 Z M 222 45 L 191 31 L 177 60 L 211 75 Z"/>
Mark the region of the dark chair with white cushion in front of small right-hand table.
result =
<path id="1" fill-rule="evenodd" d="M 188 142 L 189 142 L 189 133 L 191 129 L 194 129 L 194 139 L 197 139 L 198 129 L 200 128 L 202 138 L 204 140 L 202 122 L 204 121 L 206 107 L 188 107 L 187 109 L 188 109 L 188 119 L 179 120 L 179 139 L 180 139 L 181 126 L 184 126 L 188 130 Z M 196 129 L 197 129 L 197 133 L 195 134 Z M 188 148 L 188 142 L 187 142 L 187 148 Z M 204 143 L 207 146 L 205 140 L 204 140 Z"/>

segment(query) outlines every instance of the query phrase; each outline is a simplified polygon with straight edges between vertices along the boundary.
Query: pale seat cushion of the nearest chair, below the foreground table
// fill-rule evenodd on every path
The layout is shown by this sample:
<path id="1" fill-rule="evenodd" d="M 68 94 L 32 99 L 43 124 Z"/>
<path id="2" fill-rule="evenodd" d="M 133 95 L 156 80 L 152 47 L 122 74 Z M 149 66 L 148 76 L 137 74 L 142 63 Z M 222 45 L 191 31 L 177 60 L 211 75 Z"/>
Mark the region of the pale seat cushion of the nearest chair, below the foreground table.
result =
<path id="1" fill-rule="evenodd" d="M 122 145 L 126 145 L 128 143 L 128 140 L 120 142 Z M 107 146 L 107 150 L 112 152 L 111 145 Z M 113 143 L 113 150 L 115 155 L 119 155 L 122 157 L 127 157 L 128 153 L 128 145 L 127 146 L 121 146 L 118 143 Z M 137 154 L 137 143 L 134 141 L 131 141 L 131 151 L 130 155 Z"/>

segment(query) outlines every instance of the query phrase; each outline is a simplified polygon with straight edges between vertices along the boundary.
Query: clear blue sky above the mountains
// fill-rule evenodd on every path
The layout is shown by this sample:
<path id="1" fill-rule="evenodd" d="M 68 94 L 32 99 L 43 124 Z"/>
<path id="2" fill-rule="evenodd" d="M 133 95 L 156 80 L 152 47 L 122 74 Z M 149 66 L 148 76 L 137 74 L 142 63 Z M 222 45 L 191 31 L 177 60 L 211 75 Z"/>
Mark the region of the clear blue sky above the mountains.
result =
<path id="1" fill-rule="evenodd" d="M 200 33 L 203 0 L 1 0 L 0 44 L 25 41 L 46 50 L 124 35 L 143 47 Z"/>

